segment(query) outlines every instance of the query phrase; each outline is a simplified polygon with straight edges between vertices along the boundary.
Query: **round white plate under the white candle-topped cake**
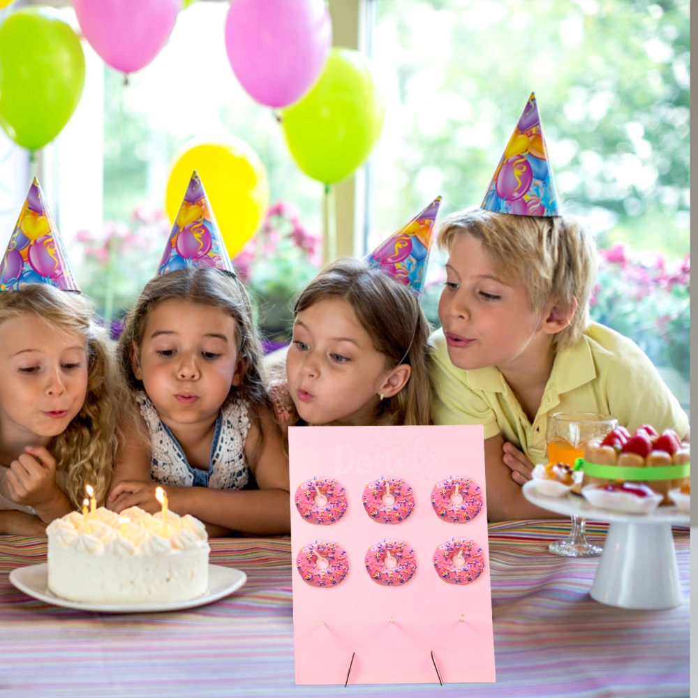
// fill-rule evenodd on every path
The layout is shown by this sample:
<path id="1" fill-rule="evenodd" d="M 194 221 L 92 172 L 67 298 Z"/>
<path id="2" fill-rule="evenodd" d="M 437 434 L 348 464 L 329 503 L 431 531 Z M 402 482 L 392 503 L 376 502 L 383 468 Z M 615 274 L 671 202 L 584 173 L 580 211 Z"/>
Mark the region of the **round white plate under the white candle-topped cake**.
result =
<path id="1" fill-rule="evenodd" d="M 210 604 L 237 591 L 247 581 L 242 570 L 221 565 L 209 565 L 209 591 L 188 601 L 147 604 L 94 604 L 68 601 L 48 591 L 48 565 L 29 565 L 10 572 L 10 582 L 20 591 L 54 606 L 79 611 L 101 611 L 101 613 L 155 613 L 157 611 L 179 611 Z"/>

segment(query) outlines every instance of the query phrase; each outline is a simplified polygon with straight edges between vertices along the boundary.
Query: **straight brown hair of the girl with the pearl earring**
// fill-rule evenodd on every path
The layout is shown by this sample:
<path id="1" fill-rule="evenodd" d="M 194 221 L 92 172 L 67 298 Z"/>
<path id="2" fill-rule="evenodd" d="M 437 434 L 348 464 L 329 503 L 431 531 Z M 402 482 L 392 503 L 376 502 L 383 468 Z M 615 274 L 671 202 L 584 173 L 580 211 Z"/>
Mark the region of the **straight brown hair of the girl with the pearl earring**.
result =
<path id="1" fill-rule="evenodd" d="M 294 315 L 328 298 L 346 300 L 385 366 L 412 366 L 407 385 L 380 403 L 376 424 L 430 424 L 429 321 L 406 285 L 352 257 L 323 269 L 299 295 Z"/>

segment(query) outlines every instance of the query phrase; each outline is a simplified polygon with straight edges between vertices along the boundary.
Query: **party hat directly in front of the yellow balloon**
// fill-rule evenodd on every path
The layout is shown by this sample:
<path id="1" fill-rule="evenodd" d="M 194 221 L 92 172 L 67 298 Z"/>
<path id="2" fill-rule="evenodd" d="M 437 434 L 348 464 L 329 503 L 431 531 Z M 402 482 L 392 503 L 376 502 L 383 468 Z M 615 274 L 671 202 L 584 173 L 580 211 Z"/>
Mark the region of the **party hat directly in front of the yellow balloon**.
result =
<path id="1" fill-rule="evenodd" d="M 186 267 L 214 267 L 235 276 L 199 173 L 194 171 L 156 276 Z"/>

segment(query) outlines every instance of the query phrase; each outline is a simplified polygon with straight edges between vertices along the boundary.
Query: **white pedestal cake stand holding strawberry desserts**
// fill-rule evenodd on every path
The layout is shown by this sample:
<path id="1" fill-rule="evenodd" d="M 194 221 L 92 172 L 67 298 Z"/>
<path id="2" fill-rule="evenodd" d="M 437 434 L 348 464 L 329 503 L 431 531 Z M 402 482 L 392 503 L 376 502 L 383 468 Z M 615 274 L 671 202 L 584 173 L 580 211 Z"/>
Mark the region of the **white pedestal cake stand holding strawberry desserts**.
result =
<path id="1" fill-rule="evenodd" d="M 535 491 L 533 481 L 523 485 L 523 496 L 537 507 L 556 514 L 609 522 L 591 588 L 593 599 L 626 609 L 681 606 L 683 595 L 671 524 L 688 526 L 689 514 L 676 507 L 658 507 L 651 514 L 621 514 L 593 507 L 576 494 L 560 498 L 542 496 Z"/>

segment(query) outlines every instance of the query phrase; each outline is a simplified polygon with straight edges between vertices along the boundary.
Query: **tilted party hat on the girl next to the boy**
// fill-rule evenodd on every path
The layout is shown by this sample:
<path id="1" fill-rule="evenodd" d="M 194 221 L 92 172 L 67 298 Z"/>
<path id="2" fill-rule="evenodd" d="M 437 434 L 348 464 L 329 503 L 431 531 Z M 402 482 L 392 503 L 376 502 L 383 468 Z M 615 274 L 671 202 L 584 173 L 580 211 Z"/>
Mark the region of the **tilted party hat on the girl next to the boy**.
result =
<path id="1" fill-rule="evenodd" d="M 371 267 L 394 276 L 419 295 L 424 285 L 426 266 L 429 264 L 432 232 L 441 197 L 417 214 L 404 228 L 394 232 L 376 247 L 364 261 Z"/>

